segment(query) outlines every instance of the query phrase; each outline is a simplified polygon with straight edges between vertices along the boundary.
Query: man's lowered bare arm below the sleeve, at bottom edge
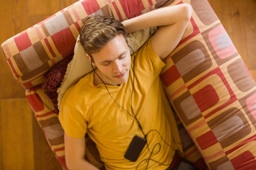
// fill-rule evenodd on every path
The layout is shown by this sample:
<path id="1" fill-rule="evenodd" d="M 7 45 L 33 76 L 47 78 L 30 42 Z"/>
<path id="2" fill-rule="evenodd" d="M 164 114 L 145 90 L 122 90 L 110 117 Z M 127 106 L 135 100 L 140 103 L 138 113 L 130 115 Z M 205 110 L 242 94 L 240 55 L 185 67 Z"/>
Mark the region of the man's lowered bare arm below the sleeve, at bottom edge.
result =
<path id="1" fill-rule="evenodd" d="M 85 137 L 73 138 L 64 134 L 65 160 L 69 170 L 99 170 L 85 160 Z"/>

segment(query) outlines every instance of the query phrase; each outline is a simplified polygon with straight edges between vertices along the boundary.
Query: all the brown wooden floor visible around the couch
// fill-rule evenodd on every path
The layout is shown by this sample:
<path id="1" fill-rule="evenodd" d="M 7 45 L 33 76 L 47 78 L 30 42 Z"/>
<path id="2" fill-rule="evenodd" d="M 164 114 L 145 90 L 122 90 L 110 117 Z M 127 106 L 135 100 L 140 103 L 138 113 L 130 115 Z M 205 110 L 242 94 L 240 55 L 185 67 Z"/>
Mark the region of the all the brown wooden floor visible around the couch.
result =
<path id="1" fill-rule="evenodd" d="M 1 0 L 0 44 L 76 0 Z M 209 0 L 256 80 L 256 0 Z M 0 54 L 0 170 L 61 170 Z"/>

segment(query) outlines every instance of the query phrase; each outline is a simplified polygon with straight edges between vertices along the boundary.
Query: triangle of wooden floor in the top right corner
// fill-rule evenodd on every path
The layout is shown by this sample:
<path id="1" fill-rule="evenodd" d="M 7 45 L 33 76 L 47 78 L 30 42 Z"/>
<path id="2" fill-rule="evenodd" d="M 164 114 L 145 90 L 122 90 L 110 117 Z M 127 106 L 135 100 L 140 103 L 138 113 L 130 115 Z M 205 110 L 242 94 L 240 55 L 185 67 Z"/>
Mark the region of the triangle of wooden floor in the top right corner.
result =
<path id="1" fill-rule="evenodd" d="M 209 0 L 256 80 L 256 0 Z"/>

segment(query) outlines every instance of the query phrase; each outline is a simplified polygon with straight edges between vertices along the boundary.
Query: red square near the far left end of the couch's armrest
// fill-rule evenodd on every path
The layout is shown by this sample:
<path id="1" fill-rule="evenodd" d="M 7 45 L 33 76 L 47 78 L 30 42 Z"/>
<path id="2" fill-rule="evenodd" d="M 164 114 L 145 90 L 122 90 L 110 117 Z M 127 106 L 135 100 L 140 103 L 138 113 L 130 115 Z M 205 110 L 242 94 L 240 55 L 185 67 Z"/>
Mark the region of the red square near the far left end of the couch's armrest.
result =
<path id="1" fill-rule="evenodd" d="M 32 45 L 27 32 L 24 32 L 18 37 L 15 37 L 14 41 L 19 51 L 23 51 Z"/>

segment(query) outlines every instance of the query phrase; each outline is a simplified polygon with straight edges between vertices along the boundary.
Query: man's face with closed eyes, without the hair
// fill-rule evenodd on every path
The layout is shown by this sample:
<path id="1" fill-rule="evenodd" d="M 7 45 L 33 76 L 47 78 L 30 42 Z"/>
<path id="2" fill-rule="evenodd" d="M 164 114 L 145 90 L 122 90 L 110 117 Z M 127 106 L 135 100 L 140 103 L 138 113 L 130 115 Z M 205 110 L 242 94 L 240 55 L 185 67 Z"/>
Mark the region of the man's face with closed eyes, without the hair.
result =
<path id="1" fill-rule="evenodd" d="M 122 35 L 110 40 L 98 53 L 92 54 L 92 57 L 105 84 L 117 86 L 128 81 L 131 57 Z"/>

